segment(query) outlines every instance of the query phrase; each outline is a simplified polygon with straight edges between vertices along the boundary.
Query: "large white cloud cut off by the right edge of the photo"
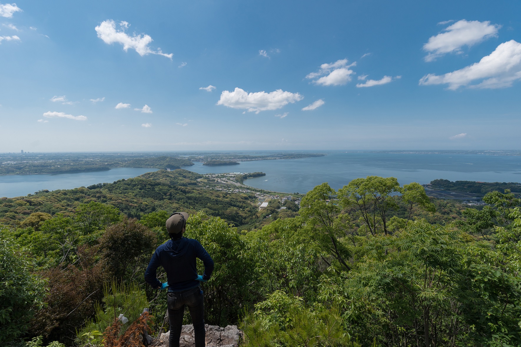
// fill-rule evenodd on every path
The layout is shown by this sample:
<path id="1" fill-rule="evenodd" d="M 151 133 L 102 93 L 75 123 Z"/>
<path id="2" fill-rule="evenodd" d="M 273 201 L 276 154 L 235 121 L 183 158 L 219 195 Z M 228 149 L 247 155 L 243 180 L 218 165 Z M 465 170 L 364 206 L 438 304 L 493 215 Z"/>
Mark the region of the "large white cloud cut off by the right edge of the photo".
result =
<path id="1" fill-rule="evenodd" d="M 521 80 L 521 44 L 511 40 L 463 69 L 443 75 L 429 73 L 421 78 L 419 85 L 448 84 L 451 90 L 461 86 L 494 89 L 510 87 L 517 80 Z"/>

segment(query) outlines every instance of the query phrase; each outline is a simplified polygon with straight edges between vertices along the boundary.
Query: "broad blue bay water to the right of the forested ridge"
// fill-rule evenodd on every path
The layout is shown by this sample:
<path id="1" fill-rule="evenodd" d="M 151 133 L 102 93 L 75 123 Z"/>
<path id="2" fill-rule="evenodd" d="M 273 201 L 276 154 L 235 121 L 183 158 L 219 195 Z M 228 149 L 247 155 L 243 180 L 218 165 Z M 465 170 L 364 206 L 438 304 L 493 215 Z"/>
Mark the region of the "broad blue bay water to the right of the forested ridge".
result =
<path id="1" fill-rule="evenodd" d="M 197 173 L 264 172 L 244 184 L 279 192 L 305 193 L 328 182 L 338 189 L 352 179 L 369 175 L 396 177 L 401 185 L 450 181 L 519 182 L 521 156 L 462 153 L 328 152 L 325 157 L 245 161 L 233 166 L 187 168 Z"/>

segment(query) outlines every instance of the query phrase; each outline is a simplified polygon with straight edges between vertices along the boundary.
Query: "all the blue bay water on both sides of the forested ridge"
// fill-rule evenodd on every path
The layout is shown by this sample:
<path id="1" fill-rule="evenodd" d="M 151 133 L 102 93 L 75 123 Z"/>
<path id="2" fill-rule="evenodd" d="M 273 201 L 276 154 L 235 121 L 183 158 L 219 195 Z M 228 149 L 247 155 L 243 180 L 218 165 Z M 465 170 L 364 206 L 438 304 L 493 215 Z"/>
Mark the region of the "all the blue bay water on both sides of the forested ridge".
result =
<path id="1" fill-rule="evenodd" d="M 400 184 L 450 181 L 519 182 L 521 156 L 469 153 L 325 152 L 325 157 L 245 161 L 239 165 L 205 166 L 196 162 L 184 169 L 197 173 L 264 172 L 246 185 L 279 192 L 305 193 L 328 182 L 338 189 L 352 179 L 377 175 L 396 177 Z M 0 176 L 0 197 L 26 196 L 41 189 L 71 189 L 156 171 L 150 168 L 116 168 L 109 171 Z"/>

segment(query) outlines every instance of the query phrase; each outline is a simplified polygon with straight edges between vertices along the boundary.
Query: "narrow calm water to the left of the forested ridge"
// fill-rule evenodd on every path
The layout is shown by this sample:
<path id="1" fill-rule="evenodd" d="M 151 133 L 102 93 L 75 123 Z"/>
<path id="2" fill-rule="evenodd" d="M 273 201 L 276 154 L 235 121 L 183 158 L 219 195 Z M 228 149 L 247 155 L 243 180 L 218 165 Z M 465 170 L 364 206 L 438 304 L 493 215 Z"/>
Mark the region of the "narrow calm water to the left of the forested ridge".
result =
<path id="1" fill-rule="evenodd" d="M 0 176 L 0 197 L 26 196 L 47 189 L 72 189 L 97 183 L 111 183 L 157 171 L 151 168 L 115 168 L 108 171 L 75 172 L 63 174 L 5 175 Z"/>

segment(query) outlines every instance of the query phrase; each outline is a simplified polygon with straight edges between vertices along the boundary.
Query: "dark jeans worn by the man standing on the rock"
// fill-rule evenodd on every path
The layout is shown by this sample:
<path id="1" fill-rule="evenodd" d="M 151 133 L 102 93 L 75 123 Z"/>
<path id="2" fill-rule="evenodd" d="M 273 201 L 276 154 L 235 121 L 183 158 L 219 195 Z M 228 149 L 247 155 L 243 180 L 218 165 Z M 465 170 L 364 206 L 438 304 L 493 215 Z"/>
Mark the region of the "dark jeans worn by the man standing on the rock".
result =
<path id="1" fill-rule="evenodd" d="M 195 347 L 205 346 L 203 291 L 199 287 L 181 292 L 168 292 L 168 320 L 170 321 L 169 347 L 179 347 L 184 306 L 188 306 L 194 326 Z"/>

